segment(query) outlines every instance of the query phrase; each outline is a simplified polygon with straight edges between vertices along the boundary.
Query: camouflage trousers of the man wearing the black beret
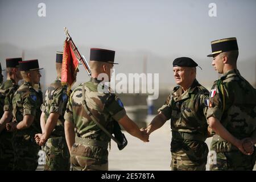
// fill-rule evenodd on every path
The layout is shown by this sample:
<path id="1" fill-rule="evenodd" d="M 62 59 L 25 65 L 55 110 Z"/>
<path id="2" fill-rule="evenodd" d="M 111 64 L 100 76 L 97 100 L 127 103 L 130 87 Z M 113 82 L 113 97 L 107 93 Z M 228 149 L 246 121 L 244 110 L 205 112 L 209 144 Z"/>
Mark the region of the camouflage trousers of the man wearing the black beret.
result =
<path id="1" fill-rule="evenodd" d="M 208 151 L 205 142 L 173 138 L 171 169 L 173 171 L 205 171 Z"/>

